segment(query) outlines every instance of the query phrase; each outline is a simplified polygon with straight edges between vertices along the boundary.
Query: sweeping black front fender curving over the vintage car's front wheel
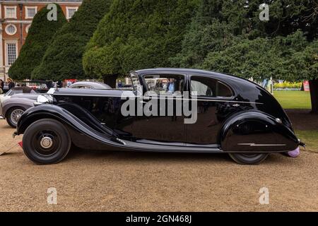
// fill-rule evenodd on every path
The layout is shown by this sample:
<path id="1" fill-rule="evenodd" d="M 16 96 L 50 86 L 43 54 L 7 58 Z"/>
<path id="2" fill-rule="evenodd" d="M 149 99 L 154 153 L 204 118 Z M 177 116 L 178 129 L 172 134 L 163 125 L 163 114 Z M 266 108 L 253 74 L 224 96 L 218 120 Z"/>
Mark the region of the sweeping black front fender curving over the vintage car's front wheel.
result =
<path id="1" fill-rule="evenodd" d="M 40 119 L 56 119 L 66 126 L 71 133 L 72 142 L 81 148 L 96 150 L 113 150 L 122 148 L 122 141 L 112 129 L 102 126 L 86 109 L 73 105 L 73 112 L 69 112 L 58 105 L 39 105 L 24 112 L 13 135 L 20 135 L 28 126 Z"/>

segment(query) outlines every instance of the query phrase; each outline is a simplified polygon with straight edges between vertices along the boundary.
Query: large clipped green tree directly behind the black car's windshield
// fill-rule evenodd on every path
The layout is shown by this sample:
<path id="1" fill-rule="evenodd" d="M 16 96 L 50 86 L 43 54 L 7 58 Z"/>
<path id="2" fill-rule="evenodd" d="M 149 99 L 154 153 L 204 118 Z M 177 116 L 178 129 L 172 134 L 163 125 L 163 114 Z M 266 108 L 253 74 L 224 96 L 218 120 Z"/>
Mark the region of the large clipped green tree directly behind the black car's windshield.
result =
<path id="1" fill-rule="evenodd" d="M 83 56 L 86 73 L 114 86 L 118 75 L 171 66 L 197 0 L 115 0 Z"/>

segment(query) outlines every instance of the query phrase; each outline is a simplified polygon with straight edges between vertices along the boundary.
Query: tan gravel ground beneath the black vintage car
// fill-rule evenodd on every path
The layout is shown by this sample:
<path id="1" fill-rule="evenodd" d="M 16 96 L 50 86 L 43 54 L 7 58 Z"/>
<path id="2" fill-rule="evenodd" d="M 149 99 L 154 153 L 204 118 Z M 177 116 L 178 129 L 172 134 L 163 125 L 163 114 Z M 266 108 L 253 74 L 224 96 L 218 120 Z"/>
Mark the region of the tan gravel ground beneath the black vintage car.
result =
<path id="1" fill-rule="evenodd" d="M 0 120 L 0 148 L 18 143 Z M 0 156 L 1 211 L 318 211 L 318 154 L 275 154 L 258 166 L 228 155 L 71 150 L 35 165 L 18 145 Z M 57 189 L 57 205 L 47 189 Z M 259 189 L 269 189 L 269 205 Z"/>

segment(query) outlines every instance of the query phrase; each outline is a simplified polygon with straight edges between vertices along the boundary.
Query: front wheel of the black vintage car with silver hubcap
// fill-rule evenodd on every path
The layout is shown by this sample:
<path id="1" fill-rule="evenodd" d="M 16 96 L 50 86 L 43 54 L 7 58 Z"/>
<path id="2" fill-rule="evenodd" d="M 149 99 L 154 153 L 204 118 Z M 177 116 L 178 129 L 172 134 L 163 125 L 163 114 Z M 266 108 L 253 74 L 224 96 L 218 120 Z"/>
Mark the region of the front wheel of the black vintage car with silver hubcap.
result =
<path id="1" fill-rule="evenodd" d="M 71 148 L 69 131 L 54 119 L 33 122 L 23 135 L 23 152 L 37 164 L 56 164 Z"/>

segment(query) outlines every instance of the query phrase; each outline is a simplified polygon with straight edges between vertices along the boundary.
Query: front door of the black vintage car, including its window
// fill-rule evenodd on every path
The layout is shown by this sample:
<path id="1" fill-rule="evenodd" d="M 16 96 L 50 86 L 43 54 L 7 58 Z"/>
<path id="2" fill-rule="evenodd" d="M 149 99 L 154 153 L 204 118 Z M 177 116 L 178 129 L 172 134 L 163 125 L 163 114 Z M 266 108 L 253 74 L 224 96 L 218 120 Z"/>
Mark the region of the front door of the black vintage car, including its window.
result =
<path id="1" fill-rule="evenodd" d="M 145 74 L 141 76 L 143 83 L 143 107 L 156 100 L 156 115 L 137 116 L 134 121 L 134 136 L 136 138 L 184 144 L 185 126 L 182 115 L 182 93 L 185 76 L 179 74 Z M 150 95 L 152 93 L 153 95 Z M 177 103 L 177 101 L 179 101 Z M 181 103 L 181 105 L 180 105 Z M 173 108 L 173 109 L 172 109 Z M 152 110 L 152 108 L 151 108 Z M 180 114 L 181 110 L 181 114 Z M 178 144 L 178 145 L 179 145 Z"/>

